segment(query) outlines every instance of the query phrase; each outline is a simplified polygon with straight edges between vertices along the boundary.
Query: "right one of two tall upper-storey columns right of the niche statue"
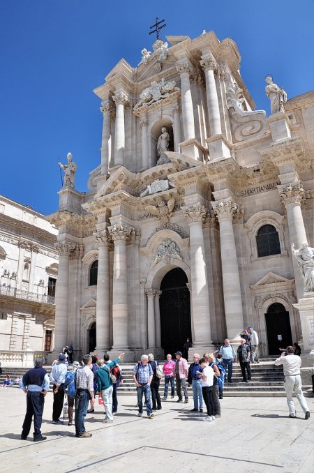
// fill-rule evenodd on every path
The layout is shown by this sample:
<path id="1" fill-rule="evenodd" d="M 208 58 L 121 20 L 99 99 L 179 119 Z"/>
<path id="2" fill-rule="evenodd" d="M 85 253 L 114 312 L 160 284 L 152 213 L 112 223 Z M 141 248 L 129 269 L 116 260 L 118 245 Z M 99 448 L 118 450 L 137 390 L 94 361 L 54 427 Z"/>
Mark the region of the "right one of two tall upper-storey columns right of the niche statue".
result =
<path id="1" fill-rule="evenodd" d="M 215 82 L 216 62 L 211 57 L 204 57 L 200 61 L 206 80 L 207 110 L 211 136 L 221 135 L 220 111 L 218 94 Z"/>

